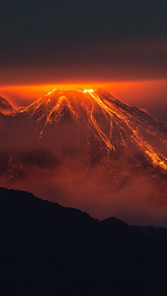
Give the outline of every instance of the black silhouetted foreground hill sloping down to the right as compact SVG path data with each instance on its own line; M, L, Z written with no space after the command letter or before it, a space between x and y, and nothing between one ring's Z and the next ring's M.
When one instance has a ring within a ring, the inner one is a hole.
M1 295L166 295L167 229L0 188Z

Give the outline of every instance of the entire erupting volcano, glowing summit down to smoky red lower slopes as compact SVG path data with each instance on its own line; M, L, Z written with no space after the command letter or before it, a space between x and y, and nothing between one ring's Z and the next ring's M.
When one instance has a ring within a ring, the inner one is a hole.
M0 120L0 186L56 192L93 217L164 221L167 129L150 115L104 90L54 89Z

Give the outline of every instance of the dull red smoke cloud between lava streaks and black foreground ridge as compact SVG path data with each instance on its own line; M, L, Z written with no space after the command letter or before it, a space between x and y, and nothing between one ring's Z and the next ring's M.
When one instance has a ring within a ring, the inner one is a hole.
M31 143L22 146L22 137L13 142L8 130L8 142L3 137L1 145L0 185L79 208L100 220L114 216L129 224L167 226L166 179L149 176L146 168L129 170L119 158L108 162L107 155L96 157L92 145L86 146L84 131L79 139L73 127L63 124L52 140L53 131L48 131L37 149ZM114 165L120 176L114 176Z

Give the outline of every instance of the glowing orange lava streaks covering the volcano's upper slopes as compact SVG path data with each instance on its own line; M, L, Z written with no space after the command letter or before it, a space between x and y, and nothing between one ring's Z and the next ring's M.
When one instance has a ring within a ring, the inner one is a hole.
M120 147L126 154L137 149L152 166L167 171L166 127L104 90L54 89L22 110L24 115L26 121L40 127L38 140L49 124L58 125L70 117L77 124L88 126L104 144L108 158Z

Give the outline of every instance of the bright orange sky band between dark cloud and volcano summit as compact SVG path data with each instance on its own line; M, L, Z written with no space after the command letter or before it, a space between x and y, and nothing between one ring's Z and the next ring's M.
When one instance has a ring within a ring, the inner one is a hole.
M41 84L41 85L1 85L0 96L10 101L15 108L24 108L33 101L53 88L78 87L79 83L72 84ZM98 82L81 83L83 88L104 88L113 96L125 101L125 103L154 115L160 120L166 118L167 80L148 81L118 81L118 82Z

